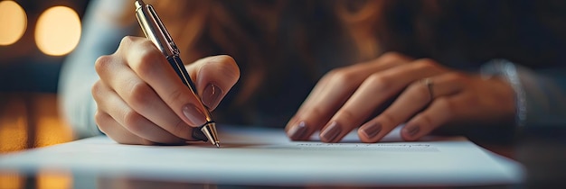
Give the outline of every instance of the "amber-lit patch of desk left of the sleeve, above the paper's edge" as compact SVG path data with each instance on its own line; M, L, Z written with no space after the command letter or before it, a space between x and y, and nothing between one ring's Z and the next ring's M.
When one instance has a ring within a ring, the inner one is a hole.
M0 153L71 140L56 94L0 93Z

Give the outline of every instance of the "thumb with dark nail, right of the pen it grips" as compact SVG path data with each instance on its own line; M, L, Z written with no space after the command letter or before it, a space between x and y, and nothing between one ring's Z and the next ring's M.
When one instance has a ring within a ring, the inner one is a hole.
M227 55L202 58L185 67L210 111L218 106L240 78L240 68L234 58Z

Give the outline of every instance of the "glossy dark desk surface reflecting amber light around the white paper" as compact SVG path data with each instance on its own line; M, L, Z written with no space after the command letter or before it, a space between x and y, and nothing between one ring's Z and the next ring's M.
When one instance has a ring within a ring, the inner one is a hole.
M0 94L0 97L0 153L71 141L71 130L59 118L55 94ZM523 164L527 172L525 185L528 187L566 184L566 130L558 128L525 130L524 135L514 142L474 142ZM96 182L92 182L93 180ZM37 175L0 173L0 188L71 188L72 185L81 184L90 185L90 188L245 187L165 182L127 176L87 179L64 172L42 172ZM313 186L307 185L307 187Z

